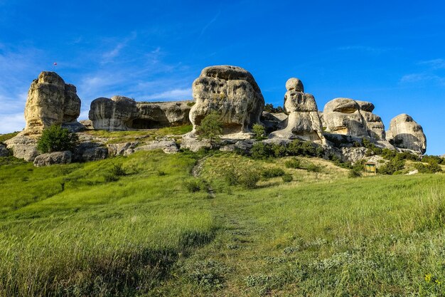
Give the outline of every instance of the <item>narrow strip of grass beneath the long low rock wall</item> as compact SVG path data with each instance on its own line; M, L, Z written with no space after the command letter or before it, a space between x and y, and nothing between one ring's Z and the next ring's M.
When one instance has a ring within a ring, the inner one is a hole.
M174 127L164 127L160 129L149 130L132 130L132 131L107 131L107 130L90 130L85 131L87 135L95 137L108 138L107 144L132 142L136 140L146 141L155 140L156 137L178 136L191 132L192 125L181 125Z

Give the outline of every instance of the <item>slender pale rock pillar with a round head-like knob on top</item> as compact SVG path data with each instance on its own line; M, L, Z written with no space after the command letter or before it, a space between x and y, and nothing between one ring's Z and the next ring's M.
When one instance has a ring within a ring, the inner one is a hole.
M298 78L289 78L286 82L284 109L289 113L286 127L272 132L271 137L294 138L324 143L323 125L313 95L303 93L304 86Z

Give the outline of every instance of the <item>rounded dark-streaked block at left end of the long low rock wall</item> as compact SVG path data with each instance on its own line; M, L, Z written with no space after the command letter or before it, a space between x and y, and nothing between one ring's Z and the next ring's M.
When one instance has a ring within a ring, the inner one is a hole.
M95 129L129 130L138 115L136 101L123 96L97 98L92 101L88 118Z

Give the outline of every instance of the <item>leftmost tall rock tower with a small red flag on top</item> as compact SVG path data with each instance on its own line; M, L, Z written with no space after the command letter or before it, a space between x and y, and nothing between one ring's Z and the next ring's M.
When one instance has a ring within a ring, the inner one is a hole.
M20 135L39 135L53 124L79 128L80 98L74 85L55 72L43 71L33 80L26 100L26 127Z

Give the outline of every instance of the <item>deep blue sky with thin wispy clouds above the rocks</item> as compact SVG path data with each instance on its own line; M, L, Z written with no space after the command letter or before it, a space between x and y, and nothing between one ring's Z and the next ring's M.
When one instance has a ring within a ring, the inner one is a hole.
M250 71L267 103L303 80L318 109L368 100L389 127L400 113L445 154L444 1L0 0L0 133L24 127L26 93L41 71L91 100L191 98L205 66Z

